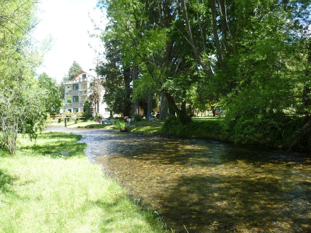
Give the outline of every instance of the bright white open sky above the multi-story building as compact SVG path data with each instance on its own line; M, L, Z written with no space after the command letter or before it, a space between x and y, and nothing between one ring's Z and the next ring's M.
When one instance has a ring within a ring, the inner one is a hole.
M96 53L91 46L99 48L102 43L99 39L90 38L88 31L94 32L93 23L101 21L101 28L107 20L99 9L94 9L96 0L42 0L38 4L37 15L40 20L32 37L39 42L52 36L54 44L44 56L44 62L37 69L38 73L46 72L56 78L59 83L64 74L68 74L72 62L77 61L84 70L95 68L93 59Z

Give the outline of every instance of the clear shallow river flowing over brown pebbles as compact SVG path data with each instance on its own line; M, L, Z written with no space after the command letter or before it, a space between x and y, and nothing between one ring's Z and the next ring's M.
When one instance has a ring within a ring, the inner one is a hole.
M311 232L311 158L207 139L48 127L82 135L88 158L176 232ZM184 226L185 227L184 227Z

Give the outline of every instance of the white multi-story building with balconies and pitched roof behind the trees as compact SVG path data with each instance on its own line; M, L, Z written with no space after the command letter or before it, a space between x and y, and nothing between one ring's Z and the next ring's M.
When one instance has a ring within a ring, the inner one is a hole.
M97 76L94 70L89 72L80 71L72 80L65 85L65 112L84 112L85 99L90 95L90 83ZM103 102L104 90L100 99L99 112L105 118L110 116L106 103ZM92 115L95 115L95 107L91 108Z

